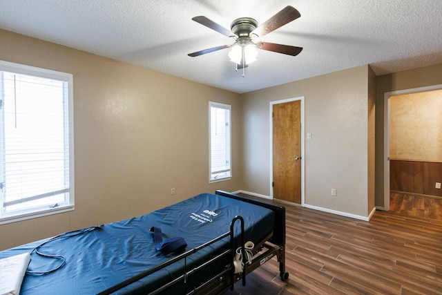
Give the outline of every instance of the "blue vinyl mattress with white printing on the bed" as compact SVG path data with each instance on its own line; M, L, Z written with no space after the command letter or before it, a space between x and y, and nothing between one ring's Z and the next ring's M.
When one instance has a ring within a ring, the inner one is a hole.
M40 247L44 254L59 254L66 263L49 274L26 274L21 294L97 294L117 283L136 276L155 265L164 263L175 254L164 255L155 250L151 227L160 227L163 238L181 236L187 242L185 251L218 238L230 229L235 216L244 218L245 240L255 243L263 240L273 229L273 211L263 207L202 193L169 207L143 216L113 222L76 236L52 240ZM239 223L236 222L236 229ZM236 230L236 233L239 231ZM237 234L236 234L237 236ZM45 240L0 252L0 259L31 252ZM219 254L229 247L229 240L215 242L160 272L124 287L119 294L146 294L183 273L184 265L191 269L196 264ZM45 271L57 267L59 260L31 256L28 270ZM206 267L201 276L211 277L220 272L224 262ZM213 274L212 274L213 272ZM195 278L193 279L195 280ZM194 285L199 282L195 280ZM177 288L182 288L178 285ZM171 293L176 293L171 291Z

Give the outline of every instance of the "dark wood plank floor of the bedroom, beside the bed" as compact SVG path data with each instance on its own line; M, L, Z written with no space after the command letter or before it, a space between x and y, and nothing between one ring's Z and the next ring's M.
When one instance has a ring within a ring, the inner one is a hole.
M369 222L287 209L286 268L276 258L225 295L442 294L442 221L376 211Z

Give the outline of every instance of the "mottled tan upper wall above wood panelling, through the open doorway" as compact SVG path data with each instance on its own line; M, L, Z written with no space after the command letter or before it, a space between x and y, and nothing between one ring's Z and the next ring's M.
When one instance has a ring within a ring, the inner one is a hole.
M390 160L442 162L442 90L390 97Z

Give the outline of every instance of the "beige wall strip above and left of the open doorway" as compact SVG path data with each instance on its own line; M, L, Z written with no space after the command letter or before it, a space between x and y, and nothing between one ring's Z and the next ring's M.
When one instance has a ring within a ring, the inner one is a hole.
M376 206L384 206L384 94L442 84L442 64L376 77Z

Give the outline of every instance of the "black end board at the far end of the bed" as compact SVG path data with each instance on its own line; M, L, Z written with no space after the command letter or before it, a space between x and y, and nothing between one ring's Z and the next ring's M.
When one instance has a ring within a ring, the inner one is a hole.
M275 225L273 226L273 236L270 238L270 242L278 246L285 245L285 207L278 206L276 204L271 204L269 202L264 202L260 200L255 200L251 198L245 198L235 193L228 193L227 191L215 191L219 196L224 196L227 198L233 198L236 200L241 200L243 202L248 202L251 204L256 204L260 207L265 207L272 210L275 213Z

